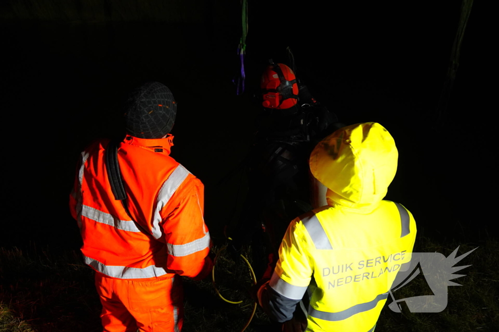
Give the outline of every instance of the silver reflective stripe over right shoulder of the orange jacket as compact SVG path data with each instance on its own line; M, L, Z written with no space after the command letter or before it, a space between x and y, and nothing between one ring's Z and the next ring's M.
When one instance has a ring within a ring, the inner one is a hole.
M156 209L154 210L152 226L152 234L156 239L159 239L163 234L160 227L160 223L162 221L160 215L161 210L165 207L177 188L179 188L189 174L190 172L184 166L179 164L172 174L170 174L165 183L163 183L163 186L161 186L158 193L158 200L156 202Z

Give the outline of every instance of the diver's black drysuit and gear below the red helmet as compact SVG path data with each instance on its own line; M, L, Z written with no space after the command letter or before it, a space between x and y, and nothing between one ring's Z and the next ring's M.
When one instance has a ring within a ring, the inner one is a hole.
M287 109L263 108L256 119L254 144L246 160L249 191L239 223L230 232L228 249L235 260L239 260L242 246L251 242L257 280L271 260L269 255L278 257L289 222L312 209L308 166L312 149L344 126L293 78L294 74L288 81L297 83L296 104ZM269 265L275 263L273 259Z

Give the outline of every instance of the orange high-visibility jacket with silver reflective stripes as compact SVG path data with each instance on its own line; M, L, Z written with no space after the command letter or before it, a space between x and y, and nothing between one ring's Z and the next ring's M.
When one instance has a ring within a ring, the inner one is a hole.
M84 261L120 279L175 274L201 279L212 267L211 239L203 219L204 186L170 157L173 136L126 136L118 162L131 218L109 184L105 150L109 140L81 153L70 210L83 238ZM145 234L136 221L148 234Z

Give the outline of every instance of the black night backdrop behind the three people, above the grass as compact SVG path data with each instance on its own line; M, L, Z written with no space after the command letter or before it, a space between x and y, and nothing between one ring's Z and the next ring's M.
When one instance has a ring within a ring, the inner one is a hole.
M495 53L483 2L473 4L445 125L437 121L460 2L249 0L243 96L232 83L239 1L3 2L0 246L80 246L68 210L78 154L119 134L120 102L144 80L179 103L172 156L205 183L206 222L222 240L245 191L240 173L219 181L248 151L260 111L252 90L268 58L287 63L287 46L297 75L342 122L376 121L394 136L387 199L413 213L418 234L495 236L497 105L484 81Z

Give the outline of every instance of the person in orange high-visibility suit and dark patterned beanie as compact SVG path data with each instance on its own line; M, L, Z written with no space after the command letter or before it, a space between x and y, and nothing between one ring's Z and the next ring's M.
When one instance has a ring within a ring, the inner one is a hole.
M181 331L180 276L199 280L213 267L203 183L170 157L176 111L166 86L146 83L127 101L124 139L81 153L70 210L95 270L104 332ZM113 151L123 200L111 184Z

